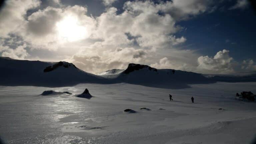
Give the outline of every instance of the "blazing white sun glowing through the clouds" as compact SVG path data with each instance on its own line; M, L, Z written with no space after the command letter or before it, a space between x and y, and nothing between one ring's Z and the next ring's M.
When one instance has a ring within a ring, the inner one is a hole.
M88 37L86 27L79 25L76 17L67 16L56 24L58 36L61 40L69 42L78 41Z

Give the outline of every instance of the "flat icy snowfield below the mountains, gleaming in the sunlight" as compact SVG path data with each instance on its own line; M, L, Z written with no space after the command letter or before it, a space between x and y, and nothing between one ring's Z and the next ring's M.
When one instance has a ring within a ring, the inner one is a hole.
M251 144L256 136L256 103L237 101L235 94L255 93L255 85L0 86L0 135L6 144ZM85 88L93 98L76 97ZM45 90L72 95L39 95Z

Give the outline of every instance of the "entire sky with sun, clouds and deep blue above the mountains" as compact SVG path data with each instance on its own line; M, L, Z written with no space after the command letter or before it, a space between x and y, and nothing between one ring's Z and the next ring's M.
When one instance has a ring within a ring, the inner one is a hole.
M93 74L129 63L203 74L256 70L247 0L7 0L0 56L67 61Z

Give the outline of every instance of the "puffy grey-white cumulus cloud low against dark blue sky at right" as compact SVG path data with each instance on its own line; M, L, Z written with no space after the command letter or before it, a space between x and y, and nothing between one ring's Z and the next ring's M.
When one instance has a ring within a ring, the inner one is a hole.
M197 59L197 71L208 74L227 74L234 72L233 58L229 56L228 50L222 50L211 58L209 56L200 56Z

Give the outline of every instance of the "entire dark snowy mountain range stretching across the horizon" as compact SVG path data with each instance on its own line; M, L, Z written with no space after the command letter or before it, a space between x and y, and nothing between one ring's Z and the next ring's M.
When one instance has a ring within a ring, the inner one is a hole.
M129 64L127 69L113 69L94 75L68 62L42 62L0 57L0 85L69 86L79 83L130 83L160 88L186 88L189 84L216 81L256 81L256 75L204 76L174 69L156 69L147 65Z

